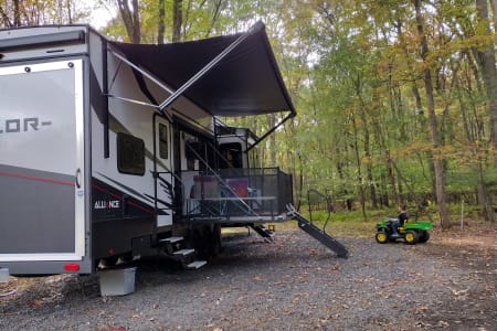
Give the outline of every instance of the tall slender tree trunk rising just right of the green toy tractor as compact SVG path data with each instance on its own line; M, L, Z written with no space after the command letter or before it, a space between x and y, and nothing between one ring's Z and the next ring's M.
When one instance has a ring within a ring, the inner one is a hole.
M436 202L438 204L438 213L442 228L448 228L450 218L446 206L446 194L445 194L445 178L444 178L444 169L442 162L442 154L440 152L440 135L437 131L436 124L436 114L435 114L435 100L433 96L433 83L432 83L432 74L430 67L426 63L426 57L429 55L429 45L426 41L426 35L424 34L424 22L423 15L421 12L421 0L414 0L414 7L416 12L416 25L417 33L421 42L421 57L425 64L425 68L423 70L423 81L424 88L426 93L426 108L429 114L430 121L430 135L432 140L433 148L433 169L435 173L435 191L436 191Z

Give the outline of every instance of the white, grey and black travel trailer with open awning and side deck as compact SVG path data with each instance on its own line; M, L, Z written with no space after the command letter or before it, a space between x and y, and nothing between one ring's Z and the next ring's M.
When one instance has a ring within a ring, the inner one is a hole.
M0 268L12 275L152 254L198 268L221 227L269 237L261 224L298 216L292 175L254 152L296 114L262 23L163 45L88 25L0 30ZM273 113L262 137L220 120Z

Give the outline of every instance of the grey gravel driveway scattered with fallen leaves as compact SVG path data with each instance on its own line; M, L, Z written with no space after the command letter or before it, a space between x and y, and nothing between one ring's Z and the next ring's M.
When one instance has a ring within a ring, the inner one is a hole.
M15 289L0 297L0 329L470 330L440 316L469 271L427 255L436 244L340 241L348 259L295 228L273 243L231 234L200 270L139 263L136 291L124 297L102 298L95 276L13 278L0 285L0 295ZM474 327L490 330L485 321Z

